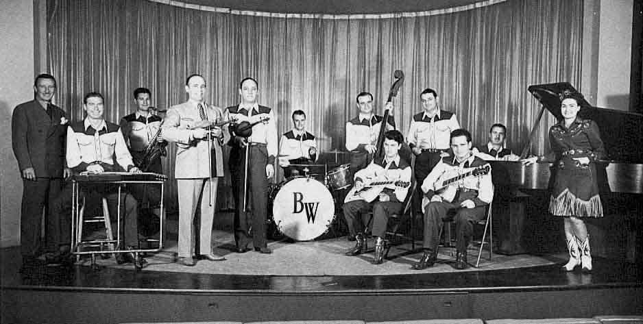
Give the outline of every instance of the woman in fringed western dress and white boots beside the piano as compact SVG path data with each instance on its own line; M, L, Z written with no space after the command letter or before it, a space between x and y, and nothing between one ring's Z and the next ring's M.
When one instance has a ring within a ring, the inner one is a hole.
M563 119L549 129L553 151L526 160L528 163L536 160L555 163L549 212L564 218L570 253L569 262L563 266L566 271L577 266L583 271L592 270L590 236L583 219L603 217L594 162L605 158L605 148L596 122L578 116L582 98L580 93L569 90L560 94Z

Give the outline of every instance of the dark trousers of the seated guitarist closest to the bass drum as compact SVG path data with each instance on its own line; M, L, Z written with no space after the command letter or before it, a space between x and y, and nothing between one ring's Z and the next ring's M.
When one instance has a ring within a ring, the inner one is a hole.
M363 200L349 201L341 206L348 224L350 236L364 233L365 223L368 218L364 219L367 212L373 211L371 221L371 233L373 236L383 238L386 234L386 227L389 221L389 215L402 211L402 203L396 201L374 201L369 203Z

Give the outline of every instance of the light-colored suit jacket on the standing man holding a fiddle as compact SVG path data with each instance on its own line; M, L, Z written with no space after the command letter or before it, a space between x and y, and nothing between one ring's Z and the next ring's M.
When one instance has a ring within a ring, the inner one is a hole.
M204 106L208 121L222 121L223 113L221 108L206 103L204 103ZM201 122L199 108L191 101L173 105L167 110L161 134L163 139L176 143L174 177L177 179L195 179L210 176L210 171L208 171L208 141L195 140L192 136L192 129ZM210 143L212 149L210 168L213 177L223 177L221 142L227 142L229 134L228 132L222 132L222 134L224 136L223 140L213 138Z

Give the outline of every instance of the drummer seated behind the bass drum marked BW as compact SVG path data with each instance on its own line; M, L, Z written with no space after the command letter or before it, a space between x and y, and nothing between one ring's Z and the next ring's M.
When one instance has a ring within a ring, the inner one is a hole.
M293 129L283 134L279 141L279 166L286 178L304 175L302 169L293 164L311 164L317 158L315 136L306 132L306 113L303 110L293 112L293 125Z

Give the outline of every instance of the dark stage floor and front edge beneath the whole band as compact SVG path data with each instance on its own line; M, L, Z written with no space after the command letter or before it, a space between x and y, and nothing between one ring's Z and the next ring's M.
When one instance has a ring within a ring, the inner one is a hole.
M169 222L172 227L172 221ZM594 259L591 274L560 270L561 253L502 256L478 269L452 269L449 248L439 264L413 271L420 252L373 265L372 254L343 256L345 236L311 242L271 240L274 253L232 251L228 225L215 229L223 262L173 263L167 249L147 256L141 272L114 258L20 271L19 249L3 249L3 323L154 321L366 321L446 318L547 318L643 314L643 273L635 264ZM419 242L418 242L419 243ZM403 253L410 244L391 249ZM470 249L474 263L477 250ZM315 269L314 271L311 269ZM306 273L309 271L310 273Z

